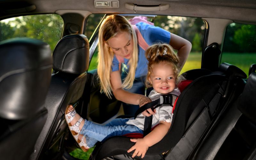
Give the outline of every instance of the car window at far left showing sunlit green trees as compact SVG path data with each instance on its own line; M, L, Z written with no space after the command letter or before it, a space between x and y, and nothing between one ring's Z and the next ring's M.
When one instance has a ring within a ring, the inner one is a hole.
M28 37L48 43L51 50L61 38L63 20L57 14L28 15L0 21L0 41Z

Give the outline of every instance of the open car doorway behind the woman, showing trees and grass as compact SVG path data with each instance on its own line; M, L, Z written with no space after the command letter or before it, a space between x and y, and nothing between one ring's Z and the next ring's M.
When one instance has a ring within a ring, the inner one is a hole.
M96 17L97 14L94 15ZM98 16L98 15L97 15ZM124 15L127 19L135 15ZM204 40L205 23L200 18L177 17L177 16L152 16L147 15L148 21L155 26L164 28L176 35L179 35L192 43L192 51L180 73L190 69L201 68L202 48ZM87 24L89 23L89 19ZM87 27L89 28L89 27ZM87 30L87 29L86 29ZM97 48L92 56L89 70L97 68Z

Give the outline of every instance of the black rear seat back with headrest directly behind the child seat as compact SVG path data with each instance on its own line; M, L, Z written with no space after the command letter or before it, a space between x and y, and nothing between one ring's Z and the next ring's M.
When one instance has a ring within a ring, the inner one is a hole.
M190 116L190 120L188 120L184 137L169 151L165 157L166 160L187 159L190 152L197 144L201 143L225 109L242 92L244 87L242 78L246 78L246 74L240 68L222 63L219 70L211 74L224 76L225 79L219 83L219 86L211 86L216 87L216 89L219 88L218 91L210 89L212 90L209 90L211 93L205 93L203 101L198 104Z

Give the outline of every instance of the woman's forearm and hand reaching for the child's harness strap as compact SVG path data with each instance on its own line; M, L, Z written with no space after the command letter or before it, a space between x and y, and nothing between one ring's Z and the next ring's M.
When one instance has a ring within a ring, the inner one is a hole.
M151 102L151 100L142 95L137 93L131 93L128 91L125 91L122 86L121 76L119 71L114 71L110 74L110 82L113 94L117 100L120 100L124 103L139 105L140 107L143 106L146 103ZM154 114L152 110L150 110ZM145 111L146 112L146 111ZM148 113L147 113L148 114ZM150 116L151 114L145 115Z

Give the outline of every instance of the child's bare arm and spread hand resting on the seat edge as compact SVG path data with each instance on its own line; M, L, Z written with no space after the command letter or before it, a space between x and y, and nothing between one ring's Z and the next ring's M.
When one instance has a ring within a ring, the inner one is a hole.
M148 135L146 135L144 138L131 139L132 142L136 143L127 152L130 153L135 149L132 158L135 156L141 156L141 158L143 158L148 150L148 147L151 147L162 140L168 132L170 126L171 123L161 121L159 125L156 126L156 128L148 133Z

